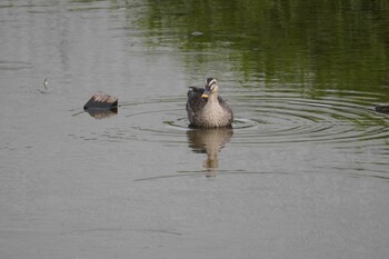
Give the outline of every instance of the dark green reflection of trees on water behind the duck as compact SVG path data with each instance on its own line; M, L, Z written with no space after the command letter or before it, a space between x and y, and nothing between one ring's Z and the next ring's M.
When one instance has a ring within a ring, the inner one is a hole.
M389 83L387 0L149 0L141 18L151 44L172 44L186 67L263 83L331 83L366 89ZM201 31L201 36L192 36ZM157 40L154 40L157 39ZM213 62L207 67L207 63ZM219 67L218 67L219 64ZM212 71L211 71L212 72ZM237 77L237 74L235 76ZM368 89L371 91L372 89Z

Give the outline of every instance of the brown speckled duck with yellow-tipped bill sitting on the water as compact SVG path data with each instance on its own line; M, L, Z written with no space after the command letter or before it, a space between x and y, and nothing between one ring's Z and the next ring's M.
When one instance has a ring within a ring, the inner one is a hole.
M219 96L215 78L207 78L203 89L190 87L186 108L190 128L231 127L233 121L233 112Z

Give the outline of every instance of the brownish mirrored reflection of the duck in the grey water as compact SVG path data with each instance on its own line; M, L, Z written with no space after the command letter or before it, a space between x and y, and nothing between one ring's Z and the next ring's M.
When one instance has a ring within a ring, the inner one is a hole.
M207 177L216 177L219 167L218 152L222 149L233 135L232 128L218 129L191 129L187 131L189 147L193 152L207 153L203 162Z

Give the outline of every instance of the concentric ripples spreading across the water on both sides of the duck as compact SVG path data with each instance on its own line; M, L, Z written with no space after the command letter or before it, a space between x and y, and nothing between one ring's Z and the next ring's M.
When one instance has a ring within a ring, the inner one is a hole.
M229 98L235 110L233 142L340 143L389 138L388 116L373 110L378 96L323 91L320 98L272 90L261 96L243 92ZM186 142L188 120L182 97L127 102L116 127L97 139L108 141Z

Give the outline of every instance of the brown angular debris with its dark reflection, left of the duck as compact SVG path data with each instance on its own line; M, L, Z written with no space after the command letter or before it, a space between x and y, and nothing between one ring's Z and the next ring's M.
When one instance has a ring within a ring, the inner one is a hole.
M118 113L118 98L103 92L94 93L83 109L94 119L104 119Z

